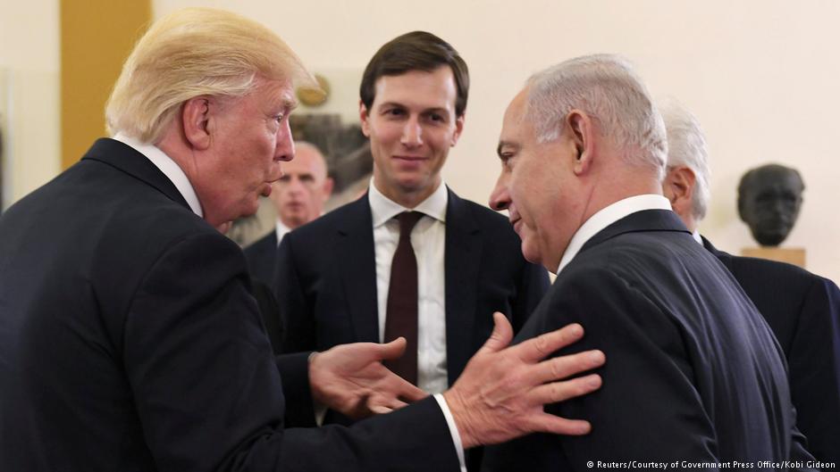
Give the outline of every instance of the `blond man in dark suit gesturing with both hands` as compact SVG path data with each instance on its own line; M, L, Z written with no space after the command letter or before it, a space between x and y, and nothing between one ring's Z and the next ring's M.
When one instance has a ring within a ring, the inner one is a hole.
M542 404L597 388L553 380L602 353L540 361L580 327L503 349L501 315L442 395L284 430L287 404L358 415L422 395L380 362L404 340L275 365L245 258L215 229L280 178L308 80L271 30L228 12L174 12L140 39L108 104L113 139L0 219L0 469L458 470L461 446L587 431Z

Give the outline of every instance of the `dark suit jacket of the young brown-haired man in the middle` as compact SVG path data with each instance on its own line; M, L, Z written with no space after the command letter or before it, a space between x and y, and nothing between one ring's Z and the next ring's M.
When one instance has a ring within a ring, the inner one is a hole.
M374 225L367 195L285 237L274 287L286 321L286 352L379 342ZM548 288L542 267L495 211L449 191L444 251L449 385L492 331L493 311L525 322Z

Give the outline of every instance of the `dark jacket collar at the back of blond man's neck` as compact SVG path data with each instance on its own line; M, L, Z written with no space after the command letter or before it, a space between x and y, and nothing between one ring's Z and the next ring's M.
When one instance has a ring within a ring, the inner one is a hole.
M100 138L91 146L82 160L105 162L105 164L122 170L134 178L139 178L149 186L155 187L172 201L181 203L189 210L189 204L184 200L183 195L172 183L172 180L157 169L155 164L149 161L146 156L137 152L130 145L113 139Z

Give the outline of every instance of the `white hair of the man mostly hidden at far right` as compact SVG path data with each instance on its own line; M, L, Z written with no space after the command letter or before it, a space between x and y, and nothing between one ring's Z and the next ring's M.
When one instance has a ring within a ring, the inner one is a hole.
M700 121L674 99L660 105L662 119L668 133L668 168L685 166L694 172L692 215L703 219L709 209L709 153Z

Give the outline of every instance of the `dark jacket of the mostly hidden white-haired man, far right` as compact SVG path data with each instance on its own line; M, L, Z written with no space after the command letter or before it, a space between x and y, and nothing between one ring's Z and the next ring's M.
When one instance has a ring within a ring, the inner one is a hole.
M840 290L791 264L733 256L705 238L703 245L732 272L781 344L808 451L840 465Z

